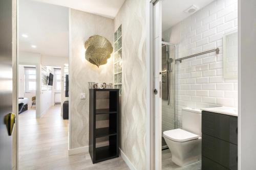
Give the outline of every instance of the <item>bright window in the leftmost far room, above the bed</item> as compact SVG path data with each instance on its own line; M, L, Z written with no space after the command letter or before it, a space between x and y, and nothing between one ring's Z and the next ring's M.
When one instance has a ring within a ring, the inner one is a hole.
M24 67L25 73L25 91L27 93L34 92L36 90L36 68Z

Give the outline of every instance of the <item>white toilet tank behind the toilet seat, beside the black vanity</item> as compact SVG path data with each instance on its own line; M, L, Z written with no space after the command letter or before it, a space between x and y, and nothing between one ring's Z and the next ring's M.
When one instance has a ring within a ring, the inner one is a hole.
M202 111L200 109L182 108L182 129L202 136Z

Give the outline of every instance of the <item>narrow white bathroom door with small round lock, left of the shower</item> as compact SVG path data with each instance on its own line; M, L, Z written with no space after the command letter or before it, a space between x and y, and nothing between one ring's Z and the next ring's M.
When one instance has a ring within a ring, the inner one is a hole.
M162 2L154 4L154 116L155 116L155 169L162 167Z

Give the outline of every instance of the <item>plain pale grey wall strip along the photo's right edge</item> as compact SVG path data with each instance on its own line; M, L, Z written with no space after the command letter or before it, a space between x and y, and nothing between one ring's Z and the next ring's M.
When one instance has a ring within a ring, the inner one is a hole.
M256 1L239 0L239 169L256 169Z

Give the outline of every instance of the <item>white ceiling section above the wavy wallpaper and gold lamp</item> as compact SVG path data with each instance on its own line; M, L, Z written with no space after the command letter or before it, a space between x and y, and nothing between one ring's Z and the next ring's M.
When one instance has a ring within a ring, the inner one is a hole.
M125 0L34 0L114 18Z

